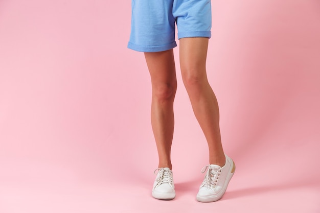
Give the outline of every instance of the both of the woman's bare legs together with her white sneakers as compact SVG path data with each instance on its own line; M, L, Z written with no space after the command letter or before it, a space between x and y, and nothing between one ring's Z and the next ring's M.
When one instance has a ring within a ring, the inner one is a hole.
M205 70L207 50L208 38L180 39L182 80L209 146L211 165L205 168L207 174L197 194L200 202L219 200L235 171L233 160L224 155L221 145L218 103ZM170 152L177 88L173 50L145 53L145 58L152 83L151 124L159 157L158 168L161 168L153 184L152 196L171 200L175 198Z

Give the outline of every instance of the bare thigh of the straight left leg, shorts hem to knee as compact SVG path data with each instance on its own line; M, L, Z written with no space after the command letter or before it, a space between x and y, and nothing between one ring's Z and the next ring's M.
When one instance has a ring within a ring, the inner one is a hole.
M176 74L173 50L145 53L152 87L175 86Z

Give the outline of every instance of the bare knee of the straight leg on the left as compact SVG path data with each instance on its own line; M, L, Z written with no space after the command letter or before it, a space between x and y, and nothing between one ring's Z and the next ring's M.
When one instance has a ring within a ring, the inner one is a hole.
M158 101L173 100L177 89L176 83L173 84L161 84L153 87L153 96Z

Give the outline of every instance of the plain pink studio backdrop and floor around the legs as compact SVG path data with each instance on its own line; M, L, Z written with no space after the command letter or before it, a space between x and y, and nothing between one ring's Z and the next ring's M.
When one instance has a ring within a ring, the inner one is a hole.
M151 85L126 48L130 1L0 0L0 212L320 212L320 2L212 10L208 75L237 170L203 204L207 144L179 72L177 197L151 197Z

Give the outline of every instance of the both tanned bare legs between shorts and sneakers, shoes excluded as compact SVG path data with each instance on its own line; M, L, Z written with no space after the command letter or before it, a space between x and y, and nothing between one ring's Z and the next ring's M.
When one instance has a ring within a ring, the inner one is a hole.
M225 156L221 144L219 108L205 69L208 40L181 38L180 66L194 114L208 142L209 163L223 166ZM158 167L172 169L173 101L177 87L173 50L145 53L145 58L152 83L151 124L159 157Z

